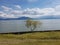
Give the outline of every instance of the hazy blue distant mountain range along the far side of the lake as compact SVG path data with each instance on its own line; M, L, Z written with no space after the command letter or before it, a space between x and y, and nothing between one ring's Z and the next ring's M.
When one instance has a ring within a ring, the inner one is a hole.
M26 20L26 19L60 19L60 15L45 15L40 16L39 18L30 18L30 17L19 17L19 18L3 18L0 17L0 20Z

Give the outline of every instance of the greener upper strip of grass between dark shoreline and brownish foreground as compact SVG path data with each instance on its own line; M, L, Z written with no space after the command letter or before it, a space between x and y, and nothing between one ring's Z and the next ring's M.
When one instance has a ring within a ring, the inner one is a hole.
M8 39L42 39L42 38L60 38L60 32L35 32L26 34L0 34L0 38Z

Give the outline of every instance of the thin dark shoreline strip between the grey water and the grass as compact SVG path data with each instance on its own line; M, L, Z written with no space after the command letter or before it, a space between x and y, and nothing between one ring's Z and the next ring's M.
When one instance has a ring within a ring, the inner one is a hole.
M60 30L46 30L46 31L23 31L23 32L6 32L0 34L25 34L25 33L35 33L35 32L60 32Z

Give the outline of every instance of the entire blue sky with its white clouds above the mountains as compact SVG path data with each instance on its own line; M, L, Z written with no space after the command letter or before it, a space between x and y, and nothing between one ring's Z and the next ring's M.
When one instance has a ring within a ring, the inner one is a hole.
M0 17L60 15L60 0L0 0Z

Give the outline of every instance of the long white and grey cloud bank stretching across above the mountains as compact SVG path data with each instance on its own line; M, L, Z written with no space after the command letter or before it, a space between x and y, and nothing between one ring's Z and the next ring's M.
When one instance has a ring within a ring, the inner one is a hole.
M10 10L7 13L4 13L4 11L0 11L0 17L5 17L5 18L17 18L17 17L32 17L32 18L38 18L40 16L45 16L45 15L60 15L60 5L55 6L54 8L26 8L23 10L15 10L12 8L8 8L6 6L4 7L4 10Z

